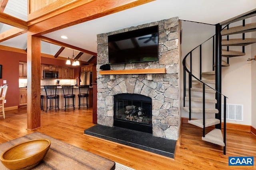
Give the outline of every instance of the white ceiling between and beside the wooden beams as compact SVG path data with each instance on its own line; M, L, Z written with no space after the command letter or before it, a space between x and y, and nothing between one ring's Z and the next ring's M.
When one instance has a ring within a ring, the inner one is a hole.
M24 4L26 0L8 0L8 5L14 6L13 3ZM26 6L22 7L22 4L19 5L19 9L26 8ZM10 10L8 5L4 13L24 20L24 12L22 13L17 9ZM44 36L97 53L96 40L97 34L100 33L108 33L173 17L178 17L180 20L215 25L255 8L256 0L156 0L122 12L47 33ZM8 28L8 25L0 24L0 32L10 28ZM66 35L68 39L60 38L62 35ZM26 49L26 34L1 42L0 45ZM41 51L42 53L55 55L59 49L60 46L58 45L44 42ZM71 49L65 49L60 56L72 57L72 53ZM79 52L75 52L75 55L77 53ZM92 55L84 54L80 59L88 61L90 57Z

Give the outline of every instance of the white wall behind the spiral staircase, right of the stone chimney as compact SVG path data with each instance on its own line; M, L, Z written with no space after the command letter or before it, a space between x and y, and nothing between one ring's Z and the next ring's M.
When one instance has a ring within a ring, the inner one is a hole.
M247 19L246 23L251 20ZM236 24L233 24L236 25ZM189 21L182 21L182 59L194 47L204 42L215 34L215 25L206 25L202 23L194 23ZM238 35L230 35L230 38L241 38ZM252 33L246 33L246 37L251 37ZM254 35L255 36L255 35ZM225 39L225 37L223 37ZM243 121L227 120L228 123L236 123L243 125L254 125L256 127L256 115L252 115L252 110L256 110L256 106L252 106L252 101L256 101L256 88L253 89L253 84L256 84L256 61L247 61L256 55L256 46L248 45L245 47L246 56L232 57L229 60L229 67L222 67L222 94L228 97L227 104L243 105ZM212 49L208 49L212 54ZM230 50L242 51L242 47L230 47ZM194 55L193 55L194 57ZM222 57L226 61L226 58ZM198 60L199 61L199 60ZM193 67L197 63L193 63ZM182 66L183 67L183 66ZM253 70L251 68L254 68ZM207 70L208 69L208 70ZM211 66L204 65L203 71L210 71ZM193 72L198 70L193 69ZM254 75L254 77L253 77ZM253 78L252 78L253 77ZM182 73L181 73L181 79ZM183 88L183 87L182 87ZM182 89L183 90L183 89ZM182 91L183 97L183 91ZM181 98L181 101L183 99ZM222 100L223 103L223 100ZM213 106L214 107L214 106ZM188 113L182 110L182 117L188 117ZM196 113L192 115L193 118L200 119L202 116Z

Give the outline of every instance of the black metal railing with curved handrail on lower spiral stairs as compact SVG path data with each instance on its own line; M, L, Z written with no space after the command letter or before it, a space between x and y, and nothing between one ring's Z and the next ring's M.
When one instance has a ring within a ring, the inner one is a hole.
M209 41L210 39L213 39L213 62L214 62L214 37L215 35L213 35L212 37L210 37L209 39L207 39L206 41L204 41L204 43L206 43L207 41ZM204 44L202 43L202 44ZM196 80L198 80L200 83L203 84L203 137L205 137L205 86L208 86L206 83L202 82L200 79L201 74L202 74L202 44L198 45L197 47L195 47L194 49L192 49L183 59L182 64L183 64L183 96L184 96L184 100L183 100L183 106L186 106L186 102L185 102L185 97L186 97L186 72L188 73L188 99L189 99L189 120L191 120L191 88L192 88L192 77L195 78ZM198 79L196 76L194 76L194 74L192 74L192 52L197 49L198 47L200 47L200 79ZM188 70L188 68L186 67L186 58L190 56L190 70ZM214 63L212 63L212 65L214 65ZM214 67L213 67L214 70ZM215 92L219 93L220 95L222 95L224 97L224 126L223 126L223 142L225 144L224 148L223 148L223 154L226 154L226 96L224 96L223 94L221 94L220 92L218 92L217 90L215 90L214 88L208 86L210 89L214 90ZM221 114L221 112L219 111L218 114ZM220 116L221 117L221 116ZM221 120L220 120L221 123Z

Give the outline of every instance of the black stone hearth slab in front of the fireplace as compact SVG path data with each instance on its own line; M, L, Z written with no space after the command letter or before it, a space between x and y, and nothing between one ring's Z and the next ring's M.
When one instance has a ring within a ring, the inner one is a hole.
M84 134L174 158L176 141L154 137L150 133L122 127L95 125L84 130Z

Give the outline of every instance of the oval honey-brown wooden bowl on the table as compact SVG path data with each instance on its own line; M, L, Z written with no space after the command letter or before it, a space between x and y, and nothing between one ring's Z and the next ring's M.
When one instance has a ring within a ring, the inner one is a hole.
M4 151L1 162L10 170L28 170L35 167L47 154L51 145L48 139L34 139L14 145Z

